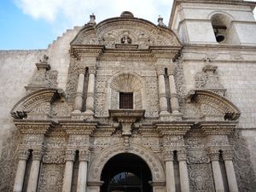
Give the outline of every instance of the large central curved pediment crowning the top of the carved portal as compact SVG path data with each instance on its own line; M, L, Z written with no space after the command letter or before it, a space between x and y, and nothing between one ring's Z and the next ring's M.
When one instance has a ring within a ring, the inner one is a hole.
M133 15L103 20L96 26L85 25L71 43L105 45L108 49L115 48L117 44L137 44L139 49L147 49L149 46L182 46L169 28L155 26Z

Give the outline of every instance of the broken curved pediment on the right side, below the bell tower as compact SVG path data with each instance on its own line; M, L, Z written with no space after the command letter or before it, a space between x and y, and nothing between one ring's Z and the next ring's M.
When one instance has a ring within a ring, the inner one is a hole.
M241 114L232 102L209 90L194 90L189 94L189 99L190 102L195 103L194 106L190 106L193 113L197 111L198 115L207 120L215 120L216 118L236 120ZM185 113L188 111L189 108Z

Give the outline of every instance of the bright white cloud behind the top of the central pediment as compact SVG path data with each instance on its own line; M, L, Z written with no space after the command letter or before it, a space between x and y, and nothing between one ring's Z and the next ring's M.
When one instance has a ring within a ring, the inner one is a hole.
M172 0L14 0L26 15L43 19L49 23L66 22L68 25L84 25L89 15L94 13L96 20L119 16L129 10L136 17L154 23L158 15L165 18L166 24L172 8Z

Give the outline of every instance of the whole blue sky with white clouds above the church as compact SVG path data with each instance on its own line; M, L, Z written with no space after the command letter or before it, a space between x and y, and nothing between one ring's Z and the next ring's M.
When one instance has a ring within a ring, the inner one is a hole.
M255 1L255 0L252 0ZM96 21L116 17L124 10L156 24L166 25L173 0L0 0L0 49L46 49L73 26L83 26L90 14Z

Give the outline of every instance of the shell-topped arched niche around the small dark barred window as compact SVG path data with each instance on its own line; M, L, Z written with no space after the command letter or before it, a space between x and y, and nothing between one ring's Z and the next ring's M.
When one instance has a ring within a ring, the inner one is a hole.
M121 73L110 83L110 109L143 109L143 84L133 73Z

